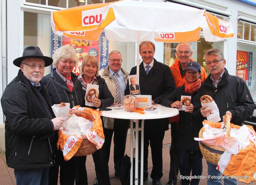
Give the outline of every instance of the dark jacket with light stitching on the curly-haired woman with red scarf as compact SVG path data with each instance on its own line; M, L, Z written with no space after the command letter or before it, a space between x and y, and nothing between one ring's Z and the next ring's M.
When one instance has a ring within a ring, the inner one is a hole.
M72 92L70 92L67 84L60 78L60 75L56 73L54 68L51 74L44 76L42 82L51 97L52 104L60 104L61 102L69 103L70 108L76 105L84 107L84 96L82 95L82 84L76 78L74 73L71 73L71 80L74 83Z

